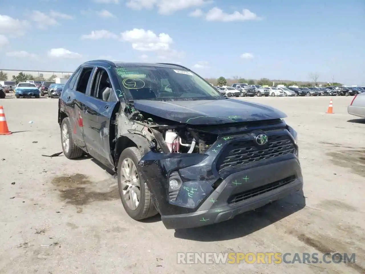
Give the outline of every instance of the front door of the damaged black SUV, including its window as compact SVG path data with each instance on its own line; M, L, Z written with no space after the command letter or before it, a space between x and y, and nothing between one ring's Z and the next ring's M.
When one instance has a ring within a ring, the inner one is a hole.
M98 154L95 156L101 163L114 168L114 160L111 156L111 142L115 138L114 132L110 134L110 120L118 98L112 87L111 77L108 70L98 66L93 75L89 99L85 103L88 110L87 131L88 138L92 149ZM85 121L86 122L86 121Z

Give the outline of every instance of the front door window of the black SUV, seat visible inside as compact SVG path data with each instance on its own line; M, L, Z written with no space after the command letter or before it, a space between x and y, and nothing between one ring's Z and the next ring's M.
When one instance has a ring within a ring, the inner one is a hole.
M114 98L111 80L105 69L97 68L91 85L90 95L105 102L111 102L112 98Z

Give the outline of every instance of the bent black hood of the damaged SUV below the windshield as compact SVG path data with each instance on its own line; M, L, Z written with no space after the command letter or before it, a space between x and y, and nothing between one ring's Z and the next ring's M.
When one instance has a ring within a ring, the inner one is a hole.
M287 117L285 113L272 107L239 99L169 102L135 100L134 108L189 125L217 125Z

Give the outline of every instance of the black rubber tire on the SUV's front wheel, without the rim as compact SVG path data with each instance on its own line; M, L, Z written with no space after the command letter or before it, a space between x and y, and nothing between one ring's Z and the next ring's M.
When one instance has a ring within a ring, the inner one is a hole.
M132 161L132 164L137 167L139 160L141 159L141 153L139 150L135 147L129 147L123 150L123 152L120 154L119 162L118 162L118 189L120 194L120 199L122 200L122 204L124 209L126 210L129 217L131 217L134 220L142 220L146 219L152 216L155 216L158 212L157 209L154 206L153 199L151 197L151 193L147 187L146 182L143 180L142 176L139 176L138 171L138 181L139 181L139 203L138 206L135 209L131 209L128 205L128 201L126 200L126 197L123 194L122 185L122 176L123 179L125 178L122 171L122 165L124 160ZM128 164L128 167L130 164ZM126 186L127 187L127 186ZM137 187L138 189L138 187Z

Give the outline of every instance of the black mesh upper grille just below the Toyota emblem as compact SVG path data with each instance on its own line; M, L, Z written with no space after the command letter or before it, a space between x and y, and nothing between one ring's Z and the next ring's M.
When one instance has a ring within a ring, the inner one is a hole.
M245 165L289 153L295 153L295 146L287 135L270 136L269 144L262 147L254 141L236 141L227 145L220 155L216 167L218 171L225 168Z

